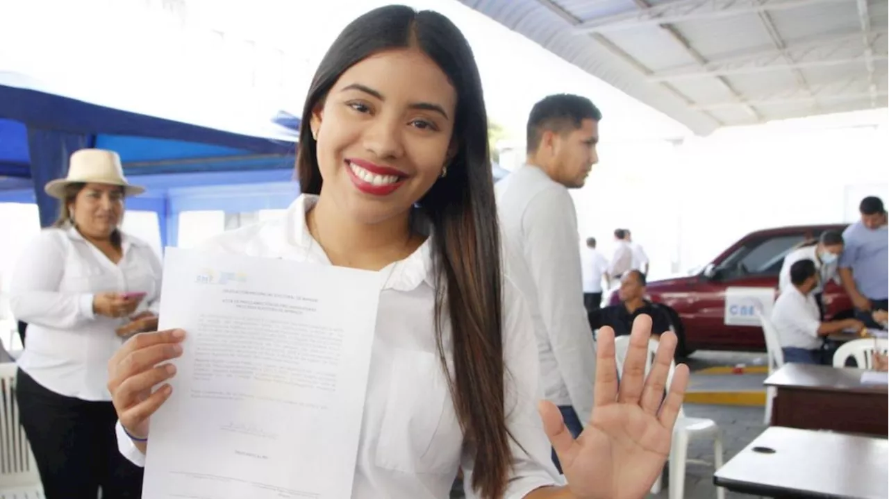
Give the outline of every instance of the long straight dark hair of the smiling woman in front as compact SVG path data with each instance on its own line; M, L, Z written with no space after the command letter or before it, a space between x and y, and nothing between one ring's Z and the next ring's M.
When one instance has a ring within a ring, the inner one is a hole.
M419 204L434 228L436 340L444 368L446 309L453 336L454 379L449 376L449 382L454 408L476 453L472 487L485 497L499 498L512 463L504 408L500 231L481 77L469 43L451 20L390 5L349 24L327 51L309 88L297 173L303 193L321 192L316 142L308 123L340 75L372 54L407 47L434 60L457 91L453 160L447 175Z

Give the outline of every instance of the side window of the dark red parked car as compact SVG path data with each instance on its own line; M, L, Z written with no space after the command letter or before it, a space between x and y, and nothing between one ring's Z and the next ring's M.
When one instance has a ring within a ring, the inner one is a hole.
M751 239L719 265L727 278L746 275L778 275L790 250L804 242L806 234L784 234Z

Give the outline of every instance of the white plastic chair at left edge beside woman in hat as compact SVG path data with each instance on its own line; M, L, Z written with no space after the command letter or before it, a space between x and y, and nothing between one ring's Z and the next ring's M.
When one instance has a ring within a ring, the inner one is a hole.
M14 362L0 363L0 499L42 498L40 474L19 425L15 373Z

